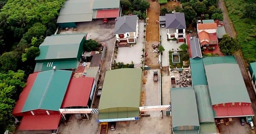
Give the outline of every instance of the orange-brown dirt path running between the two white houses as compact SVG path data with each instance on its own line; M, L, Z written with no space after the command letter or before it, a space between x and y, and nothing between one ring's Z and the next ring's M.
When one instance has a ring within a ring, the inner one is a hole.
M148 54L145 57L145 65L150 67L158 67L158 55L153 53L154 49L152 48L153 44L159 44L159 24L156 23L159 20L159 3L152 0L148 0L150 7L147 12L147 24L146 24L146 52Z

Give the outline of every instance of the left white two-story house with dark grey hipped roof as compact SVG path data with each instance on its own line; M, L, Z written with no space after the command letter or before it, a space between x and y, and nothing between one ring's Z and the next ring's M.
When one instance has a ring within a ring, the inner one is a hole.
M116 18L114 35L119 47L129 46L129 43L136 43L139 34L138 16L125 15Z

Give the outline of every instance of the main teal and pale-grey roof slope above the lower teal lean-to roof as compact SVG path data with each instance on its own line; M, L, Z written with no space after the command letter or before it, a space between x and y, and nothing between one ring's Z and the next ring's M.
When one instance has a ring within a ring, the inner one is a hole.
M48 36L39 46L40 55L35 60L77 58L86 34Z

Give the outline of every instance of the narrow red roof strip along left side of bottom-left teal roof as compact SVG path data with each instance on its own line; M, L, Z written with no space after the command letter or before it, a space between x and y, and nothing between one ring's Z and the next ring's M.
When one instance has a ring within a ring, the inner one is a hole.
M29 74L29 77L26 82L26 86L23 88L23 91L20 93L19 100L12 111L13 116L22 116L21 110L26 102L26 99L29 95L29 92L35 82L35 78L37 77L38 73Z

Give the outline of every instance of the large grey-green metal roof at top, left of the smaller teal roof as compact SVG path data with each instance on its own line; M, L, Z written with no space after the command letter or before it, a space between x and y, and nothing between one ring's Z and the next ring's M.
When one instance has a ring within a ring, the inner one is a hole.
M93 0L67 0L61 7L57 23L92 21L92 5Z

